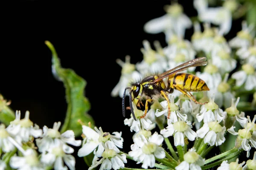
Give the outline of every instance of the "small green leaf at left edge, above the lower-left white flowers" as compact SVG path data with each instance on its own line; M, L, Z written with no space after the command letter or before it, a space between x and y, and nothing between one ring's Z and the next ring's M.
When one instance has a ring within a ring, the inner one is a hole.
M0 94L0 122L6 126L10 125L10 122L15 119L14 111L8 106L10 103L3 99L3 96Z

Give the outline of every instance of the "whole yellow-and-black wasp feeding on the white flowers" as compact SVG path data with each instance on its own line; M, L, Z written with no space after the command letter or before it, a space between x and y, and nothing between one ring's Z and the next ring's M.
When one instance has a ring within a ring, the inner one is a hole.
M125 116L125 94L126 90L130 90L129 93L129 103L131 108L131 113L136 120L134 109L132 106L132 102L140 108L140 105L143 105L142 99L146 99L145 101L145 112L144 115L140 118L146 116L148 110L148 102L153 102L156 97L163 96L168 103L168 116L170 117L170 108L169 108L169 99L167 94L173 93L174 89L180 91L182 94L188 96L195 103L204 105L207 102L201 103L198 102L195 97L190 92L196 91L209 91L204 80L196 77L193 74L187 73L179 73L181 71L185 71L191 67L203 66L207 65L206 57L200 57L188 62L184 62L181 65L178 65L175 68L172 68L169 71L164 72L163 74L156 74L145 77L144 79L131 83L131 87L125 88L123 97L122 97L122 114ZM164 78L168 77L167 82L164 81ZM167 84L167 85L166 85ZM143 105L144 106L144 105Z

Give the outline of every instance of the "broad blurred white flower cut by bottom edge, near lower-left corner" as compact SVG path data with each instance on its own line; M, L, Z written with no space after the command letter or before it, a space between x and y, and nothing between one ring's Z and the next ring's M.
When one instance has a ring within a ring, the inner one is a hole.
M28 149L23 156L12 156L10 166L17 170L45 170L44 164L38 159L36 150Z

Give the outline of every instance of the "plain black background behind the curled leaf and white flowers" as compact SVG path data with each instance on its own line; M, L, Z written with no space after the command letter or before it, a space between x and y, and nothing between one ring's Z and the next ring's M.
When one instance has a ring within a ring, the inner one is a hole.
M197 14L192 1L179 3L189 17ZM151 45L160 40L162 46L166 45L163 33L143 31L148 20L165 14L166 4L170 0L23 0L6 6L1 25L0 93L12 100L10 107L20 110L22 118L25 111L30 111L30 119L41 128L64 121L65 89L52 76L51 52L44 44L49 40L62 67L72 68L87 81L85 96L96 126L111 133L122 130L128 152L132 143L126 141L133 133L123 124L121 99L110 96L121 75L116 59L124 61L128 54L132 63L141 61L143 40ZM240 22L235 21L232 28L227 38L241 29ZM187 30L186 39L190 40L192 33L192 28ZM76 161L77 169L87 169L82 158Z

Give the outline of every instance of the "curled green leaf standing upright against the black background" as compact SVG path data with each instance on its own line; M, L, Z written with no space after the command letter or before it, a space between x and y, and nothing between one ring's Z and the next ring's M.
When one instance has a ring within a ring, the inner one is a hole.
M93 118L87 113L90 110L90 102L84 96L86 81L72 69L62 68L52 43L45 41L45 44L52 51L52 74L56 79L64 83L66 89L67 113L61 133L66 130L73 130L75 136L80 136L82 126L79 120L85 125L90 122L91 126L94 126Z

